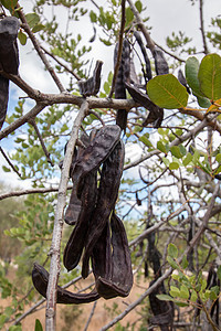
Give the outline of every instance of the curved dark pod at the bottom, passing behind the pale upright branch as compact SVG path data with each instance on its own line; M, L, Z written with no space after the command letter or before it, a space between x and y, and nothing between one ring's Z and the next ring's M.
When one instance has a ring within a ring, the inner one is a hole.
M46 288L49 282L49 273L44 267L39 264L34 264L32 269L32 281L40 295L46 298ZM80 305L88 303L99 299L99 295L96 290L92 290L90 293L73 293L57 286L57 303L65 305Z

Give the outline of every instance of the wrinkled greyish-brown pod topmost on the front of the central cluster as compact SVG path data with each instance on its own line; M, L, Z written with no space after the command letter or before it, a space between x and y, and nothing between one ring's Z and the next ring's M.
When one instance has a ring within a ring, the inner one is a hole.
M81 197L83 178L98 167L108 158L120 138L120 128L117 125L102 127L92 142L83 151L73 168L74 180L76 180L77 197Z

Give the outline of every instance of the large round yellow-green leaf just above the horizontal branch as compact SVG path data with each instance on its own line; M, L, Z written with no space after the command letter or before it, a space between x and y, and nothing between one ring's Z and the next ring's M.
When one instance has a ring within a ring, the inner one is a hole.
M188 102L186 87L171 74L150 79L147 83L147 94L156 105L167 109L183 108Z

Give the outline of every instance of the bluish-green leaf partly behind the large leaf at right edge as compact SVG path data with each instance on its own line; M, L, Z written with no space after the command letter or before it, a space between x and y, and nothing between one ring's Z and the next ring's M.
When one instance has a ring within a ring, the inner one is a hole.
M200 63L197 57L191 56L186 62L186 79L193 95L198 98L200 107L209 108L211 103L200 90L200 82L198 79Z

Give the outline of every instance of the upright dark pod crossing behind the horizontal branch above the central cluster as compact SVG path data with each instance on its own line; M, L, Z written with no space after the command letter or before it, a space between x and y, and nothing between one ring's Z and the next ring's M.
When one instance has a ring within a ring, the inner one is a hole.
M114 67L117 62L117 53L118 53L118 44L116 45L114 52ZM116 84L115 84L116 99L126 99L126 88L124 83L129 81L129 71L130 71L130 47L129 47L129 42L125 39L123 41L122 60L120 60L120 64L116 77ZM126 109L117 110L116 124L122 128L122 130L126 130L126 126L127 126Z

